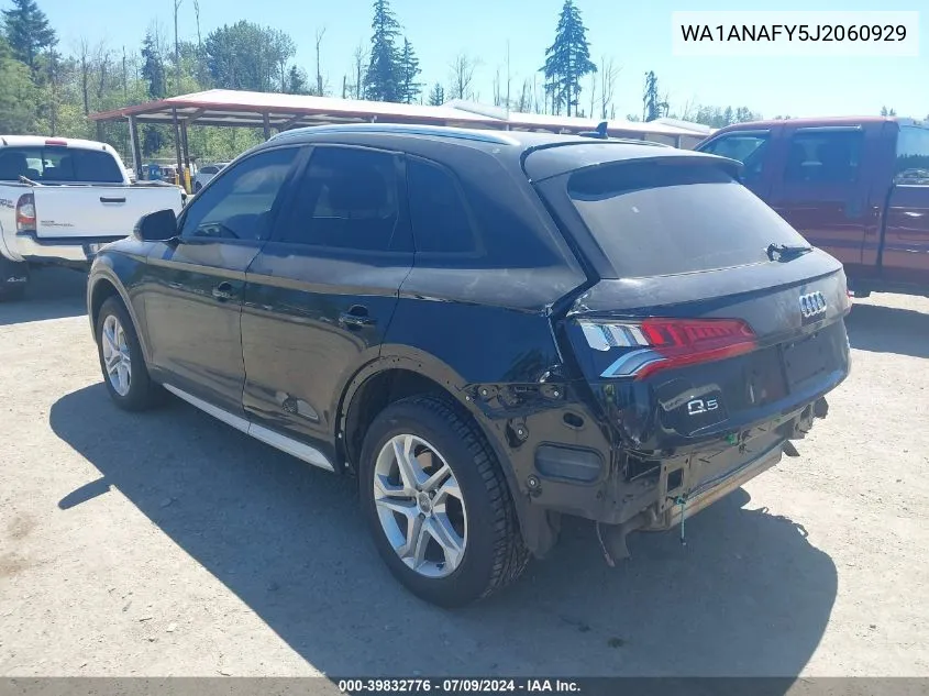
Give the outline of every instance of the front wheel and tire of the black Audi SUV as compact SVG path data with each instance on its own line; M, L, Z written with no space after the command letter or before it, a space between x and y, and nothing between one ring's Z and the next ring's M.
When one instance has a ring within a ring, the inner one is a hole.
M152 382L132 318L118 297L103 302L97 317L97 354L110 398L126 411L144 411L161 401Z

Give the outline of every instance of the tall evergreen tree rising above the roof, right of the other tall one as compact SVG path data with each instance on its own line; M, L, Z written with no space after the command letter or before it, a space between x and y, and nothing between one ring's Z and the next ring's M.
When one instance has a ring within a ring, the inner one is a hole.
M566 107L567 115L576 113L580 80L585 75L596 73L597 66L590 60L587 29L574 0L565 0L562 7L555 43L545 51L545 65L540 71L545 75L545 89L551 98L552 111L561 113L562 107Z

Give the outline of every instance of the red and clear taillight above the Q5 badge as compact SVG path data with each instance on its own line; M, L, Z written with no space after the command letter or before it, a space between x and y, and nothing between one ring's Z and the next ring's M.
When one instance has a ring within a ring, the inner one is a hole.
M662 369L709 363L757 347L741 319L643 319L579 322L597 351L628 349L600 375L642 379Z

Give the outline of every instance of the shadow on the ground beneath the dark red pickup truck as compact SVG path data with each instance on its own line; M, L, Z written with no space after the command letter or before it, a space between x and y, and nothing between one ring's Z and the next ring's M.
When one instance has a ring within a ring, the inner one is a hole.
M852 347L929 357L929 314L913 309L855 305L845 319Z

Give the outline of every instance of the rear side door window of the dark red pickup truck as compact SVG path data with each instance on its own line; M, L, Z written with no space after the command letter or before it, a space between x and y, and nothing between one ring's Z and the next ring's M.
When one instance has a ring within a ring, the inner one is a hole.
M798 132L790 139L784 180L840 184L858 179L860 131Z

